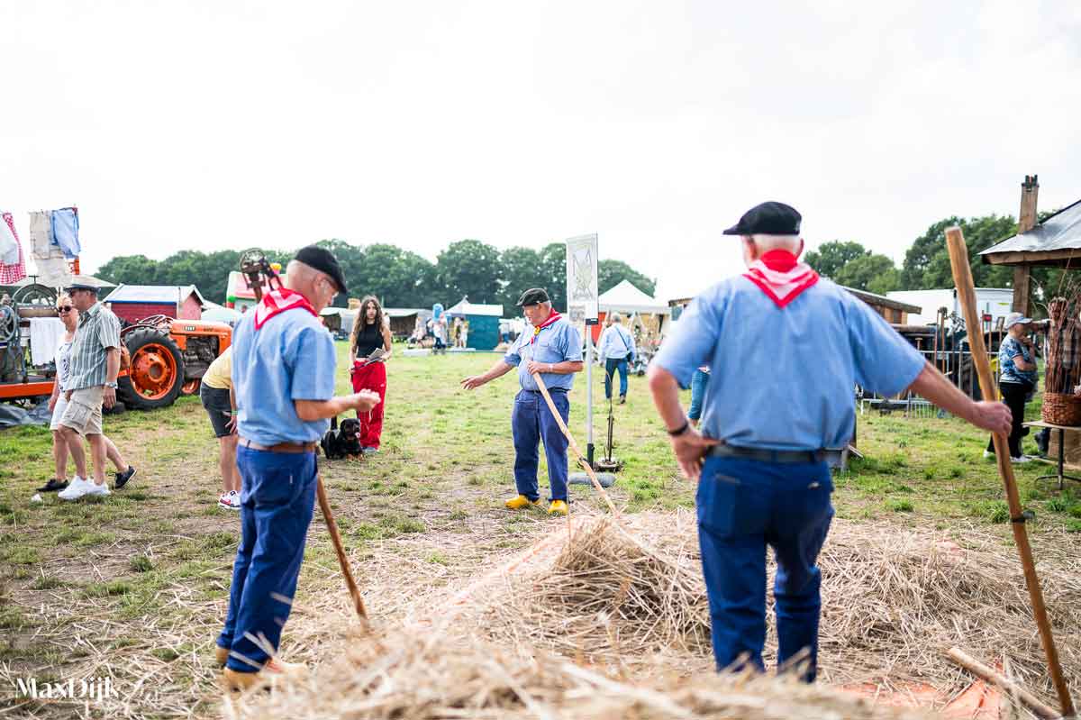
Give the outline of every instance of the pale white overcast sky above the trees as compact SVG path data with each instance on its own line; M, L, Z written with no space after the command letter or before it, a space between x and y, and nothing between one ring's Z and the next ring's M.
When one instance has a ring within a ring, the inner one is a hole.
M0 209L117 254L598 232L660 298L762 200L899 263L1081 198L1081 2L0 0ZM362 292L363 289L358 289Z

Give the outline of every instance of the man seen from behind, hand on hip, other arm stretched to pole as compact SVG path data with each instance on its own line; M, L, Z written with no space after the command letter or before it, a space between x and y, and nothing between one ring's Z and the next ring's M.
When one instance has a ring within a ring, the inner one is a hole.
M724 230L743 239L746 274L695 298L650 364L654 403L682 474L698 479L698 541L719 669L764 669L765 552L777 559L777 665L804 657L814 680L820 576L832 482L825 457L855 427L856 383L912 389L992 432L1010 410L973 402L863 302L798 262L800 215L779 202ZM702 432L679 387L708 364Z

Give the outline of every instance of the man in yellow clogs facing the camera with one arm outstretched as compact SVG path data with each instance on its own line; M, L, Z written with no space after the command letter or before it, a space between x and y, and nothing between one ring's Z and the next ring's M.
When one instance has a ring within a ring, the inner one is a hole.
M531 326L519 335L502 360L483 375L462 381L462 387L467 390L478 388L507 374L511 368L518 368L518 383L522 389L515 397L515 408L510 412L518 495L508 499L506 506L520 510L540 504L537 442L544 440L551 492L548 515L566 515L568 441L540 395L534 374L544 381L563 423L566 423L571 415L571 401L566 394L573 386L574 373L582 372L583 368L582 336L562 315L551 309L548 293L540 288L522 293L518 305Z

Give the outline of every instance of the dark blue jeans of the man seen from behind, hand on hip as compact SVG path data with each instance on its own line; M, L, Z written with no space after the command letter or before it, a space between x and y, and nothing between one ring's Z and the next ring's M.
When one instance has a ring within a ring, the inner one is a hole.
M707 458L698 482L698 543L718 669L764 670L769 545L777 559L777 664L783 667L806 649L809 665L800 679L814 681L822 610L815 562L833 517L832 490L826 463Z

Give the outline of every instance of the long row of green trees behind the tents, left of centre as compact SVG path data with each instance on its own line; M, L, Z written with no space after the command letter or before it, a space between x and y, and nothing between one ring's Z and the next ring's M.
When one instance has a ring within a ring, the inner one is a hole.
M317 244L337 257L345 274L349 295L375 295L385 307L431 307L454 304L468 296L471 303L503 305L504 315L515 315L515 303L529 288L545 288L558 308L566 307L566 245L552 242L539 250L515 246L499 250L480 240L452 242L436 262L397 245L355 245L345 240L322 240ZM120 255L95 274L103 280L139 285L188 285L203 296L225 303L230 270L240 269L240 250L204 253L183 250L165 259L146 255ZM285 264L296 251L267 251L271 262ZM600 292L623 280L652 295L656 280L616 259L598 262ZM335 305L345 307L347 297Z

